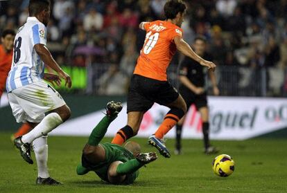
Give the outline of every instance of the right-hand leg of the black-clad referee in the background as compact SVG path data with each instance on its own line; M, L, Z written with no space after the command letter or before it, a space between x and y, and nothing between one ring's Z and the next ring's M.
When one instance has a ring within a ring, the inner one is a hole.
M205 146L205 154L216 154L218 149L212 147L209 141L209 109L207 106L200 107L198 109L202 119L202 134L203 134L203 143Z

